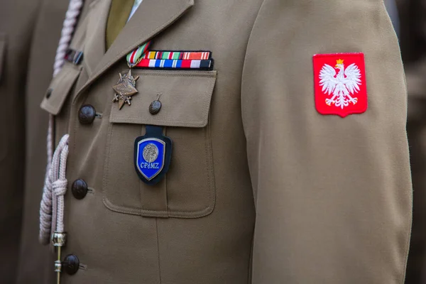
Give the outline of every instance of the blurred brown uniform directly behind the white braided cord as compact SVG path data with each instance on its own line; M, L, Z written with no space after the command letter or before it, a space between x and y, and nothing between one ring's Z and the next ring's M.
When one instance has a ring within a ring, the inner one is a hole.
M29 4L32 1L26 2ZM38 219L46 168L45 144L48 129L48 114L40 109L40 100L43 99L50 80L52 80L56 48L70 1L40 0L40 2L36 21L31 23L31 28L33 27L31 45L20 43L17 46L17 48L25 49L31 56L28 68L26 67L27 64L16 65L16 67L19 67L18 70L28 71L25 106L26 171L25 175L23 172L19 173L18 178L14 180L14 182L25 180L21 251L17 266L17 283L19 284L53 283L55 276L52 266L53 260L51 260L53 254L48 247L41 246L38 242ZM11 16L17 18L18 21L23 21L26 17L21 16L22 13L33 10L30 6L21 6L18 13ZM19 84L21 87L25 87L25 78L19 81ZM3 106L7 109L6 104L3 104ZM23 130L23 126L20 129Z

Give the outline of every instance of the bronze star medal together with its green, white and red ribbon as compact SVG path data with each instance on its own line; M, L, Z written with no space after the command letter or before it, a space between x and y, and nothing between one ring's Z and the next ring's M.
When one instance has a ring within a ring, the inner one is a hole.
M136 89L136 81L139 79L139 76L133 77L131 75L131 68L136 66L143 55L148 52L148 47L151 41L144 43L138 48L134 49L131 53L126 56L127 65L129 65L129 72L127 74L119 73L119 82L112 86L114 89L114 99L112 102L119 102L119 109L121 109L124 104L131 105L131 97L135 94L138 94L138 89Z

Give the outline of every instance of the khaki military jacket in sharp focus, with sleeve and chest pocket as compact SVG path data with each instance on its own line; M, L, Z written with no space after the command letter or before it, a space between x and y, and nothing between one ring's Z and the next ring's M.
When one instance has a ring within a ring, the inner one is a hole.
M110 2L85 4L70 45L82 63L65 62L41 104L56 143L70 134L62 253L80 269L63 283L403 283L407 97L383 1L144 0L105 52ZM148 40L210 50L214 68L133 69L138 94L119 109L111 87ZM364 53L364 114L315 110L324 53ZM147 125L173 140L157 185L133 165Z

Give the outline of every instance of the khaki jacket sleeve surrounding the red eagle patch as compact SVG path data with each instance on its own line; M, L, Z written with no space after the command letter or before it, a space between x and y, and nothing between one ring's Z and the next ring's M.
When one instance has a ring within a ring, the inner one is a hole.
M364 53L368 108L315 109L312 55ZM403 283L412 186L398 41L380 0L265 0L241 108L253 284Z

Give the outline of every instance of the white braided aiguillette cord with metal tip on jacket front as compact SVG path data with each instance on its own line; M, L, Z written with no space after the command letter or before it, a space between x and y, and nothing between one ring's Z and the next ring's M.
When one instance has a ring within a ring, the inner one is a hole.
M83 0L70 0L60 33L58 49L56 50L53 77L58 75L65 62L65 54L70 45L82 6ZM53 246L58 248L58 260L55 261L55 272L58 273L57 283L60 281L60 271L62 270L60 251L66 241L64 232L64 195L67 191L68 183L65 178L68 157L68 139L68 134L62 136L55 153L52 155L53 115L50 114L47 137L48 163L46 167L45 184L43 186L43 197L40 203L40 233L38 238L40 243L49 244L50 237L52 237Z

